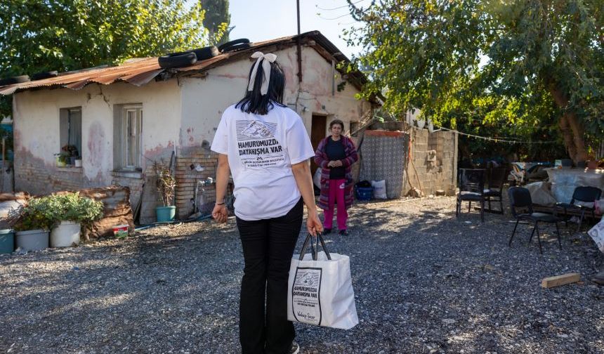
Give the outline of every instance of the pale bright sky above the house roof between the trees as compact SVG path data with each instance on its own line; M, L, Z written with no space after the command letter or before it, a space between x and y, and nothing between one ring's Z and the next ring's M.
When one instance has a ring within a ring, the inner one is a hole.
M357 6L371 3L356 1ZM265 41L298 32L296 0L230 0L229 10L231 26L235 26L230 39ZM301 32L320 31L348 58L360 51L340 38L343 29L359 26L350 16L346 0L300 0L300 22Z

